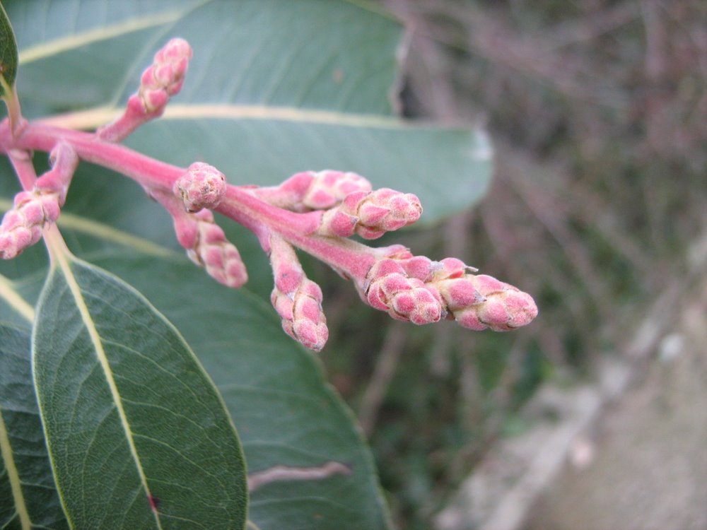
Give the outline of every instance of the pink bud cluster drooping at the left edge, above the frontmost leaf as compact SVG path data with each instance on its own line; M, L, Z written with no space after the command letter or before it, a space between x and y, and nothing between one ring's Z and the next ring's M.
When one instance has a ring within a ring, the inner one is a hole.
M3 216L0 223L1 259L12 259L34 245L42 237L45 225L59 218L78 157L71 146L59 143L49 161L52 169L35 180L32 191L18 193L13 208Z

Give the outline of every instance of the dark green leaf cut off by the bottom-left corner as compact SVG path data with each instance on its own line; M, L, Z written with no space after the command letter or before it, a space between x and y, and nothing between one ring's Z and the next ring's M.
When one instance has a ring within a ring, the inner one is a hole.
M32 381L30 336L0 324L0 528L68 529Z

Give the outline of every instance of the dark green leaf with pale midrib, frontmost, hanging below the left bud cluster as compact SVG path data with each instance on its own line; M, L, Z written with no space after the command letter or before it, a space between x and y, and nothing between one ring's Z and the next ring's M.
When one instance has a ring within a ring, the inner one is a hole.
M243 528L240 443L187 343L115 276L62 251L54 259L33 367L72 526Z

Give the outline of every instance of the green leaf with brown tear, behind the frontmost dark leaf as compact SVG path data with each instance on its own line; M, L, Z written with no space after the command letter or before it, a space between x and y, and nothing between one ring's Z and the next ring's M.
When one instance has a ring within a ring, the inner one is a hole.
M249 518L260 530L390 528L373 459L351 412L325 381L316 355L284 334L267 302L223 288L185 259L125 250L92 259L127 278L185 335L238 425L250 473L331 461L349 467L349 474L257 488Z

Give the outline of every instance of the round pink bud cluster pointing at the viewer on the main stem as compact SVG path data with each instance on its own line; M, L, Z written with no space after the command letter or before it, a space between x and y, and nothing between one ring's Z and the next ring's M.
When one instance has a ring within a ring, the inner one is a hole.
M216 208L226 194L226 177L212 165L195 162L177 179L174 192L187 211Z

